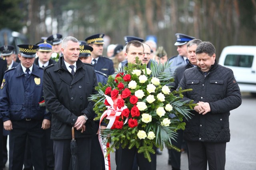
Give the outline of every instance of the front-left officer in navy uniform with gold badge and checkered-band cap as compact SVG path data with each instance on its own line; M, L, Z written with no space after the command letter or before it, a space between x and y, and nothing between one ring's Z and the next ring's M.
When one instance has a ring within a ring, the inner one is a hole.
M0 113L9 134L9 170L21 170L28 137L35 170L46 166L44 129L50 113L38 104L44 100L43 69L36 66L37 45L18 45L20 63L7 70L0 89Z

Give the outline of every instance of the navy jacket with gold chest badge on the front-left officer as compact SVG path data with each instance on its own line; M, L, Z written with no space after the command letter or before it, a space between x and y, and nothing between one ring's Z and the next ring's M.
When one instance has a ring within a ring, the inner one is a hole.
M19 63L4 75L0 90L0 112L3 121L50 119L50 113L38 104L44 100L43 69L33 64L30 76L24 74Z

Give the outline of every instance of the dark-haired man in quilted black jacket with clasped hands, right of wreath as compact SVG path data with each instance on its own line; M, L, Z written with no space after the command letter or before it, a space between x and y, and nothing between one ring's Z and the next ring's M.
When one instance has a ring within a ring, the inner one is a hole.
M198 104L184 130L190 170L206 170L207 162L209 169L225 169L230 110L242 103L233 71L217 64L215 53L212 43L200 43L196 48L197 67L185 70L178 86L192 88L183 99Z

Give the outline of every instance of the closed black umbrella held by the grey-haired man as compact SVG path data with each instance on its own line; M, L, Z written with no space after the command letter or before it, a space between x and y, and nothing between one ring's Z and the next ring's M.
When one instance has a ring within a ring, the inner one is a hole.
M72 140L70 142L70 152L71 152L71 158L70 158L70 164L69 169L70 170L78 170L78 156L77 156L77 145L76 145L76 139L75 139L75 129L72 127Z

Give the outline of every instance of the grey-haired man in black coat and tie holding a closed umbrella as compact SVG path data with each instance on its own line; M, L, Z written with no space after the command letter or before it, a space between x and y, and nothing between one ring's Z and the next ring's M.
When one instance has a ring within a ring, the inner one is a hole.
M63 56L58 63L44 69L44 97L46 108L52 113L51 139L54 141L56 170L68 170L72 127L76 129L79 170L90 169L95 113L94 104L87 98L97 93L97 78L91 64L78 60L79 50L76 38L64 38Z

